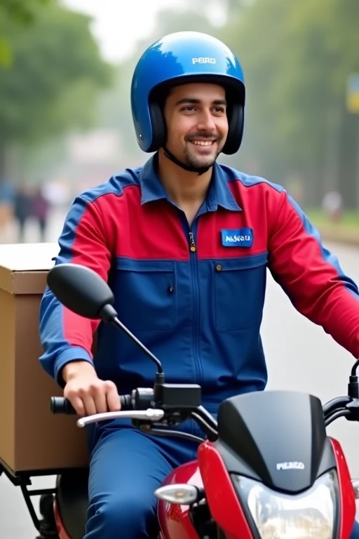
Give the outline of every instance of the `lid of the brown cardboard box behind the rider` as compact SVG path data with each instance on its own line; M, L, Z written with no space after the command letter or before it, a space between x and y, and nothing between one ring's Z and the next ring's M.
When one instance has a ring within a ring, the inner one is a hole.
M56 243L0 245L0 288L13 294L41 294L58 254Z

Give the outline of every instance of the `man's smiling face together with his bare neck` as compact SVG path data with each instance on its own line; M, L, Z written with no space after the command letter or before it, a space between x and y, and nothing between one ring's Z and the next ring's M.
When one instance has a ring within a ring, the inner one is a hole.
M212 166L226 143L226 91L218 84L182 84L159 101L167 138L158 155L158 175L191 225L205 200Z

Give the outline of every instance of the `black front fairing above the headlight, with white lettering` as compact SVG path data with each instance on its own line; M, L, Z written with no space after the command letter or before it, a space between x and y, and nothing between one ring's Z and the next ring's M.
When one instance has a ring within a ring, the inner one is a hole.
M219 406L215 442L226 469L286 493L298 493L336 466L323 408L313 395L255 392Z

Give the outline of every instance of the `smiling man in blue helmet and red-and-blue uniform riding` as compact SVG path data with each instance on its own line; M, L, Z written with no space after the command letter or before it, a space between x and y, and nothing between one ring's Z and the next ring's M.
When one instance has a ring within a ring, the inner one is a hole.
M196 32L165 36L140 58L131 102L137 141L156 153L76 198L57 263L107 279L119 318L161 359L166 380L201 384L211 413L266 386L267 265L297 310L358 357L358 288L318 232L282 187L216 163L243 133L243 72L229 48ZM96 329L46 291L41 364L79 415L119 410L118 394L154 382L148 357L111 326L98 328L94 364ZM123 420L94 427L85 538L153 536L154 490L196 448Z

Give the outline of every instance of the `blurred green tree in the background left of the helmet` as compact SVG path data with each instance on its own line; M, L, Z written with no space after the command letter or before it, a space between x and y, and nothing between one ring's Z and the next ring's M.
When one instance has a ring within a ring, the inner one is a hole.
M111 81L90 18L50 2L32 25L7 25L13 62L0 77L0 177L12 142L39 142L95 121L94 100Z

